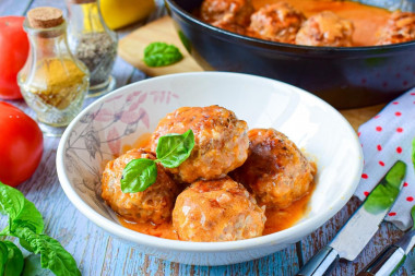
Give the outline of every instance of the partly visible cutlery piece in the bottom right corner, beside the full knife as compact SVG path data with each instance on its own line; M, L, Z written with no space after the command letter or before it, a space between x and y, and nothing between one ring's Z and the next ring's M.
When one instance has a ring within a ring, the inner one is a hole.
M415 206L411 211L415 217ZM414 223L414 221L413 221ZM394 244L387 247L358 276L389 276L405 262L406 255L415 245L415 225Z

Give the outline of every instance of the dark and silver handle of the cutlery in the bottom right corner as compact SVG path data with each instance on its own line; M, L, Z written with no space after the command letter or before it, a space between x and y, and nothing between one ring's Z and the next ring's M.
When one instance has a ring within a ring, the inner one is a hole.
M357 276L389 276L405 261L405 252L398 245L389 245Z

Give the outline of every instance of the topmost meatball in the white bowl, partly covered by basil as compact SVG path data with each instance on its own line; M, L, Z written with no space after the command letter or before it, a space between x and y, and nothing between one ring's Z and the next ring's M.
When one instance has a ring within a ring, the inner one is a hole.
M179 167L168 169L177 181L221 178L247 159L247 123L220 106L182 107L167 115L152 135L152 151L157 148L159 136L182 134L189 129L194 134L193 151Z

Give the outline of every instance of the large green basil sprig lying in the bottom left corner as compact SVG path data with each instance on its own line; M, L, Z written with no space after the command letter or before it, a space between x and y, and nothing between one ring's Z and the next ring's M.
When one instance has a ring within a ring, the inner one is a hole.
M72 255L57 240L42 233L44 219L35 205L19 190L1 182L0 213L9 216L9 225L0 232L0 236L19 238L20 244L27 251L40 254L42 267L50 269L55 275L81 275ZM10 243L9 241L0 242L0 276L20 275L23 269L22 252Z

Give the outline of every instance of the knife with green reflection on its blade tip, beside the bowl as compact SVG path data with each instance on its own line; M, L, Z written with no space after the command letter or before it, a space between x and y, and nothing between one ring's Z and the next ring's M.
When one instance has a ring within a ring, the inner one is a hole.
M355 260L378 231L392 207L402 189L405 172L406 164L396 161L334 239L315 255L297 276L321 276L330 271L339 259Z

